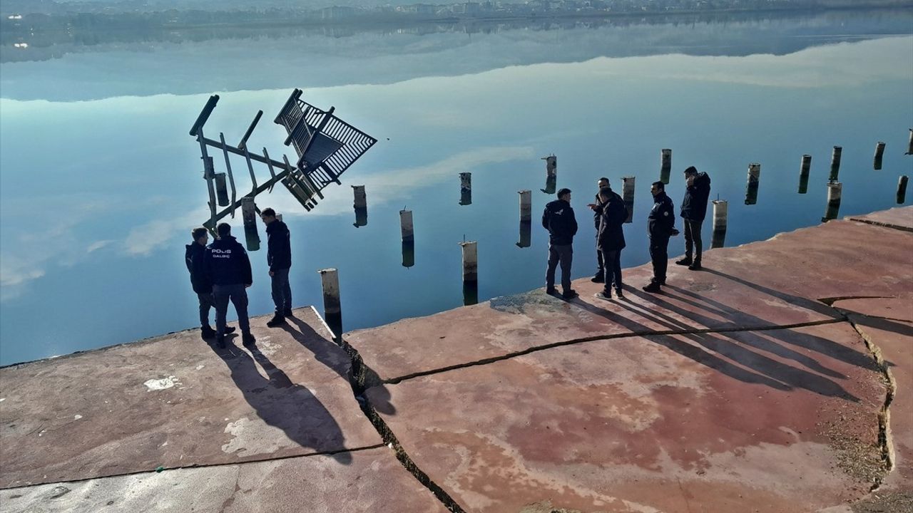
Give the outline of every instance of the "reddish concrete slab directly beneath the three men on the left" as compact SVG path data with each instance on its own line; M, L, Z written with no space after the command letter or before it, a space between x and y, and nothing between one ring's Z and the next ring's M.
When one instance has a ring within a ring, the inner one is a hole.
M251 319L253 350L188 330L0 369L0 487L382 443L316 312L268 319Z

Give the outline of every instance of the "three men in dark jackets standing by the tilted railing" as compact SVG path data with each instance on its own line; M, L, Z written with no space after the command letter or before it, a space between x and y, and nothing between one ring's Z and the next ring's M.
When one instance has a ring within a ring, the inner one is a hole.
M289 227L276 216L272 208L260 212L260 219L267 226L267 263L272 282L273 303L276 314L267 322L270 328L283 324L291 317L291 239ZM215 338L220 349L226 347L226 334L235 331L226 326L228 303L235 305L241 340L246 346L257 340L250 332L247 318L247 288L254 284L250 258L244 246L231 235L231 225L220 223L215 227L218 238L209 242L209 232L204 227L194 228L194 242L186 246L184 260L190 272L190 282L200 303L200 336L204 340ZM215 330L209 325L209 310L215 307Z

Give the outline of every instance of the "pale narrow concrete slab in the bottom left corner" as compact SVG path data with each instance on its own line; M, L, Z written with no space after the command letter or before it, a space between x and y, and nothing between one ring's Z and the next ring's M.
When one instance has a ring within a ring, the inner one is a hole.
M446 513L386 447L348 463L312 455L10 488L0 504L8 513Z

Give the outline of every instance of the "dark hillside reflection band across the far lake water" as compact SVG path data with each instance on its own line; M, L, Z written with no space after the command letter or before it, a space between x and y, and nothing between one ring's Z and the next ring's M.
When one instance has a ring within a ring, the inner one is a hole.
M4 98L13 99L191 94L211 91L214 85L222 90L262 89L263 73L275 74L277 88L301 86L296 75L307 78L306 87L383 84L597 57L784 55L806 47L911 32L913 10L909 9L403 27L83 31L37 34L27 48L5 41L0 47L4 67L0 83ZM52 76L63 78L64 83L43 87L40 80Z

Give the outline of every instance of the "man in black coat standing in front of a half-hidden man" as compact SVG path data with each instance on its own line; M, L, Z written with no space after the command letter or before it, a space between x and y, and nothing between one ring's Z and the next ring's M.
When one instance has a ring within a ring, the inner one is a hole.
M608 182L608 181L606 181ZM612 287L615 296L623 298L622 293L622 261L621 254L624 249L624 230L622 225L627 220L627 207L624 200L615 194L611 187L606 185L599 191L600 204L596 209L600 213L599 232L596 236L596 246L605 263L602 292L597 292L596 297L601 299L612 298Z

